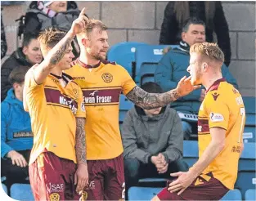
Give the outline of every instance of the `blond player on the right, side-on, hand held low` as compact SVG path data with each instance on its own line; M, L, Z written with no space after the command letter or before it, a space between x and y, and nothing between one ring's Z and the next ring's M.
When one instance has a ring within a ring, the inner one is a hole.
M222 78L224 54L217 44L195 43L187 71L192 84L203 84L206 95L198 114L199 159L188 172L177 172L154 201L219 200L234 189L243 150L245 105L240 92Z

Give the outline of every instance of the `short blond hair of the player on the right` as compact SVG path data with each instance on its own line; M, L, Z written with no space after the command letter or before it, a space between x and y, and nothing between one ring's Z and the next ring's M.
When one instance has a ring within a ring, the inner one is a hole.
M218 47L217 43L202 42L195 43L191 46L190 53L198 53L201 56L207 56L209 60L217 60L218 62L224 62L224 53Z

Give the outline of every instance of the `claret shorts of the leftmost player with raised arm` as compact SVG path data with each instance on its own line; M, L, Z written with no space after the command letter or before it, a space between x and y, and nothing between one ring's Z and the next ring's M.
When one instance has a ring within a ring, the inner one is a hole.
M29 180L35 200L79 200L75 192L76 164L52 152L43 152L29 165Z

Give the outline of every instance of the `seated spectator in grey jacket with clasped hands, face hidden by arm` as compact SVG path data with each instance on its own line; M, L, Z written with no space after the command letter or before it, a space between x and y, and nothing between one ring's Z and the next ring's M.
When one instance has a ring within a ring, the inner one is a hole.
M144 83L141 88L150 93L163 92L156 83ZM188 170L182 161L182 123L174 109L135 106L124 119L121 135L126 196L128 188L137 185L140 178L169 178L171 172Z

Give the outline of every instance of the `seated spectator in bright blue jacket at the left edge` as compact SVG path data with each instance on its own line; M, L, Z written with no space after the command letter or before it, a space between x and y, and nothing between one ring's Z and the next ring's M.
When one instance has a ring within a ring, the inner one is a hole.
M10 188L29 176L29 155L33 146L29 113L23 108L23 87L29 67L20 66L10 74L12 88L1 103L1 176Z

